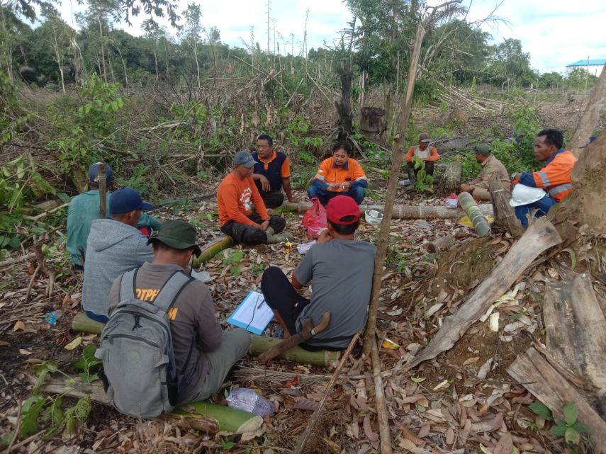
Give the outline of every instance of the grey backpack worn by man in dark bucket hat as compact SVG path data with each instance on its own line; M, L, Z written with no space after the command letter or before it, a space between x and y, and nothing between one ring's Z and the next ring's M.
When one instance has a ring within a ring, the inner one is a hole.
M120 302L103 327L95 356L103 361L109 402L124 414L152 419L178 403L168 312L193 278L175 271L154 302L144 302L135 296L137 271L122 276Z

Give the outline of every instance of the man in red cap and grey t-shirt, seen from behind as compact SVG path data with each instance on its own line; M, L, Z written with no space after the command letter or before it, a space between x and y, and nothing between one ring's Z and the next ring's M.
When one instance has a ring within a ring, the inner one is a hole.
M328 228L311 246L293 271L292 283L276 266L267 268L261 279L265 301L289 337L301 331L303 320L317 326L324 312L330 323L303 346L308 350L341 350L366 324L372 287L376 248L357 241L354 234L360 222L355 201L344 195L332 198L326 208ZM311 300L297 290L313 282Z

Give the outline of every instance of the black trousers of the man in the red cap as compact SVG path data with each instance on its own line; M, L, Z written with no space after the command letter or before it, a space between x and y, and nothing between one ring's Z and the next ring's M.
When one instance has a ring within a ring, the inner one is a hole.
M286 275L277 266L265 268L261 278L261 291L267 305L280 314L288 331L295 334L297 332L297 318L310 301L298 294ZM342 348L319 347L308 344L299 344L299 346L307 351L342 350Z

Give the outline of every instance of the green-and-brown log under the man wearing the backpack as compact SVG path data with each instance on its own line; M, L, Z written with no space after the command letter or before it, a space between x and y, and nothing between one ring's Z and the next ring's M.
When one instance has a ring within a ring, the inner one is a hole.
M99 404L109 405L101 381L83 383L79 378L47 378L41 389L49 394L67 395L69 397L89 396ZM210 402L191 402L170 414L159 416L180 427L187 427L217 433L218 431L245 433L259 429L263 424L261 416L242 410L232 409Z

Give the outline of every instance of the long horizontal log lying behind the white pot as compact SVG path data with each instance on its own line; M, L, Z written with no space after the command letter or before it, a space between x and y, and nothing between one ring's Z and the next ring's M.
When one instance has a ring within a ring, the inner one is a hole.
M288 210L293 210L299 214L311 208L311 203L286 203ZM483 215L493 215L493 205L479 205ZM360 205L360 213L364 214L366 210L381 210L385 212L383 205ZM432 205L394 205L391 213L392 219L460 219L465 215L463 210L453 210L452 208L432 206Z

